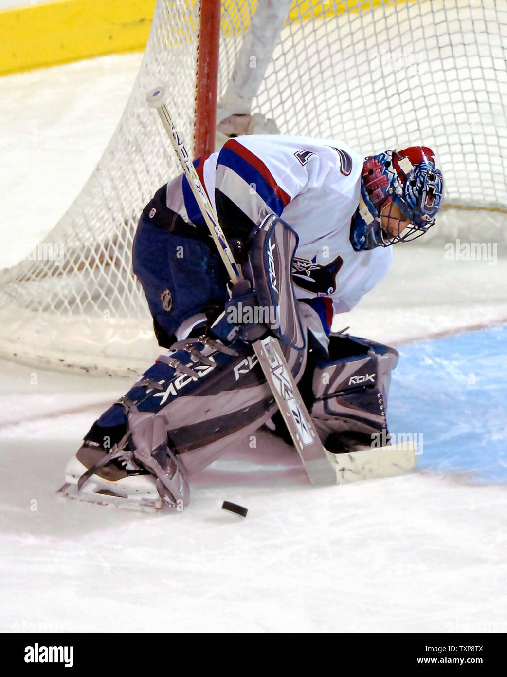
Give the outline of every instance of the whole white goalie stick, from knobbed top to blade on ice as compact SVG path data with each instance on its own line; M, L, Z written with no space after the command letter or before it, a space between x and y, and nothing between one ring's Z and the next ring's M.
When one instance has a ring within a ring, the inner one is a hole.
M172 148L178 156L180 165L187 177L189 186L193 192L197 205L201 210L206 225L210 230L210 234L216 244L218 253L226 267L231 282L235 284L241 280L241 271L237 267L231 248L222 232L218 217L214 212L213 206L208 199L206 190L204 190L201 180L195 171L187 149L183 141L178 135L176 127L170 117L166 106L166 91L164 87L155 87L147 94L147 103L151 108L155 108L160 116L162 125L168 133ZM341 483L341 481L352 481L352 479L362 479L362 461L366 463L366 475L370 477L379 477L381 475L371 470L371 462L373 459L372 452L378 454L380 449L365 450L364 452L354 452L354 454L330 454L322 445L318 433L308 413L295 380L291 374L291 370L287 365L285 357L281 351L279 341L274 336L268 336L266 339L261 339L253 344L254 351L259 360L259 364L266 376L268 385L272 391L276 404L283 416L283 420L289 429L291 438L293 439L295 448L303 462L306 473L313 484L330 485ZM385 450L394 449L394 447L383 447ZM362 454L362 456L356 456ZM403 458L400 458L402 456ZM397 469L394 472L400 472L401 469L408 469L412 467L415 462L414 450L408 454L410 458L405 458L406 455L398 453L395 455L395 466ZM352 467L347 465L348 464ZM360 460L362 459L362 461ZM387 458L385 459L387 460ZM400 462L406 466L406 461L410 462L407 467L401 468ZM368 471L368 465L370 466ZM379 465L379 459L375 463ZM392 464L389 464L391 471L385 474L392 475ZM345 476L349 479L345 479Z

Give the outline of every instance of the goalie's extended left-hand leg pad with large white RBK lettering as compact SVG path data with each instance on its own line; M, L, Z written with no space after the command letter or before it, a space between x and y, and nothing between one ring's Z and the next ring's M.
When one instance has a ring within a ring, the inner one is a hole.
M129 431L134 460L186 504L189 475L258 429L276 403L253 349L241 339L228 346L212 339L187 339L174 348L104 412L87 437L97 445L107 438L110 448ZM284 354L299 380L306 351L285 347ZM166 479L172 484L164 483Z

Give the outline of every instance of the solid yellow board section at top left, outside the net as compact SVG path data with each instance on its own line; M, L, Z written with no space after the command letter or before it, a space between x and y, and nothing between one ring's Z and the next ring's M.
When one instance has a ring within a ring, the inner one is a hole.
M0 74L143 50L155 0L66 0L0 12Z

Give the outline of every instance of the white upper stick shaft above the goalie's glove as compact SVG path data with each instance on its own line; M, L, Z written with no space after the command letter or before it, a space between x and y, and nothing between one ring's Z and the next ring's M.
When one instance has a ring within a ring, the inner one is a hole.
M206 225L208 225L208 228L210 229L210 234L216 244L216 247L218 248L218 253L220 254L220 257L222 257L222 261L224 262L224 266L227 269L231 281L233 284L236 284L236 282L241 280L241 273L237 267L231 247L228 246L224 232L220 227L220 223L218 223L218 217L214 212L213 206L208 198L208 195L206 194L206 190L204 190L201 179L199 179L199 176L195 171L195 167L189 158L187 149L185 148L183 141L180 139L178 131L176 130L176 127L174 127L174 124L171 120L171 116L165 104L165 94L164 87L156 87L147 95L147 102L151 108L156 108L158 114L160 115L162 125L164 125L166 128L172 148L174 148L174 151L178 156L178 160L180 161L180 165L189 181L189 186L193 192L193 196L195 197L195 200L197 200L197 204L201 210L204 220L206 221Z

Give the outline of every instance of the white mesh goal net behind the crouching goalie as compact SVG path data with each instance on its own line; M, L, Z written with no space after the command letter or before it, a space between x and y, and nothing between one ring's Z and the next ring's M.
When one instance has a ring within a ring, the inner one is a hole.
M265 1L222 0L218 97ZM157 1L137 80L99 164L37 250L0 273L2 356L137 374L158 355L132 275L132 239L143 206L180 170L145 94L166 84L190 146L201 9L216 4ZM209 43L212 64L218 45ZM506 55L506 0L295 0L252 112L274 118L281 133L344 139L364 154L431 146L445 209L423 240L465 233L469 240L477 228L480 241L499 242L507 210ZM204 80L212 83L213 72ZM210 137L199 125L195 144L206 148ZM54 247L63 248L62 261Z

